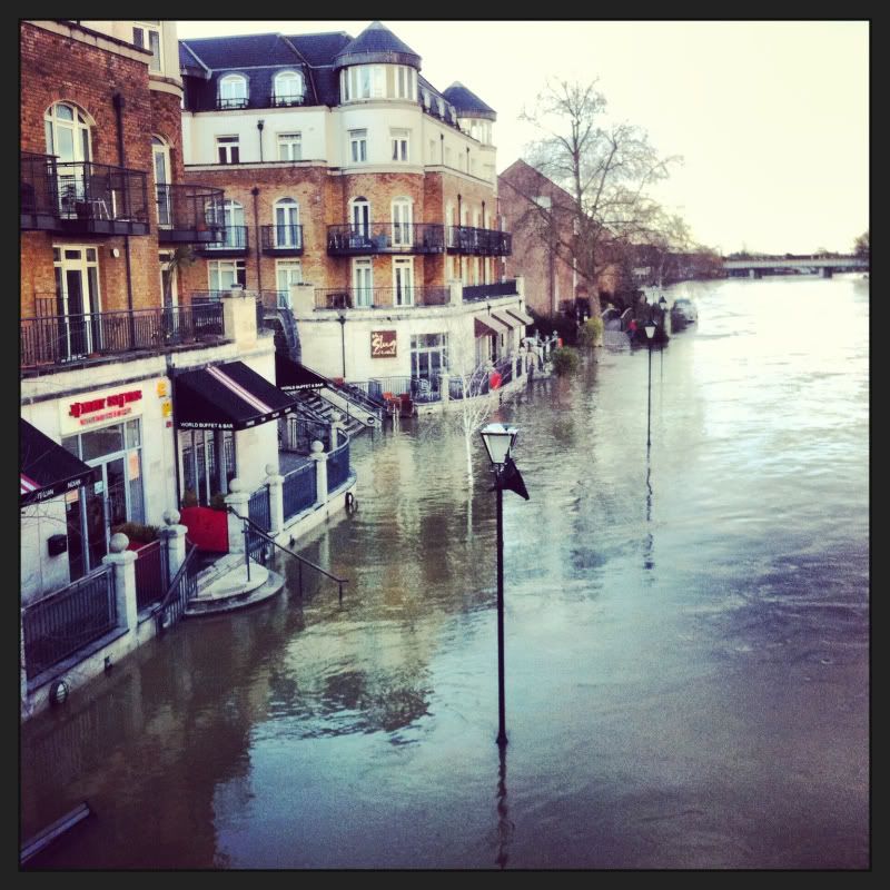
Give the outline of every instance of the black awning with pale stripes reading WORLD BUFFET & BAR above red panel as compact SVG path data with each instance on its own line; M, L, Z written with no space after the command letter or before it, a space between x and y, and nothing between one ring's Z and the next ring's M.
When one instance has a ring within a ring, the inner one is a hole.
M174 416L180 429L248 429L291 411L296 399L244 362L227 362L174 377Z

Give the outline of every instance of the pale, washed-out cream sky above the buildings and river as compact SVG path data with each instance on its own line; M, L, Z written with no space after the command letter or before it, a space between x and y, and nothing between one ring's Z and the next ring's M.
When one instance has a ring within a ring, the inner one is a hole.
M497 170L535 131L547 78L589 82L610 121L682 156L654 196L723 254L850 251L869 228L868 21L402 21L436 89L497 112ZM365 21L180 21L180 38L346 31Z

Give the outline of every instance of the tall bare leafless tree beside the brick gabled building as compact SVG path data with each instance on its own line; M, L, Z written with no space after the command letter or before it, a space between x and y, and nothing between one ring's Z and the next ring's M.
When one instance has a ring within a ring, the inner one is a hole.
M640 127L607 122L596 82L548 80L521 119L542 134L528 148L528 164L571 197L568 207L536 205L534 212L556 255L585 283L591 310L599 315L600 275L623 247L646 243L664 221L649 189L680 158L660 157Z

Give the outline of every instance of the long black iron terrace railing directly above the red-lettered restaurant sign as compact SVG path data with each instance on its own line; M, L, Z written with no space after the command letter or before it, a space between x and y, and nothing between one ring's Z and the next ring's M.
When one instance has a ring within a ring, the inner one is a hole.
M21 367L62 365L138 349L165 349L222 336L222 305L22 318Z

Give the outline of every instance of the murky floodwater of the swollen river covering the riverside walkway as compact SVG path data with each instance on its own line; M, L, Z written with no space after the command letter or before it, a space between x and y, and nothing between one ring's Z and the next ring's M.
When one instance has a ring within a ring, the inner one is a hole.
M186 621L21 732L43 868L866 868L868 281L681 285L698 325L496 418L354 443L349 577Z

